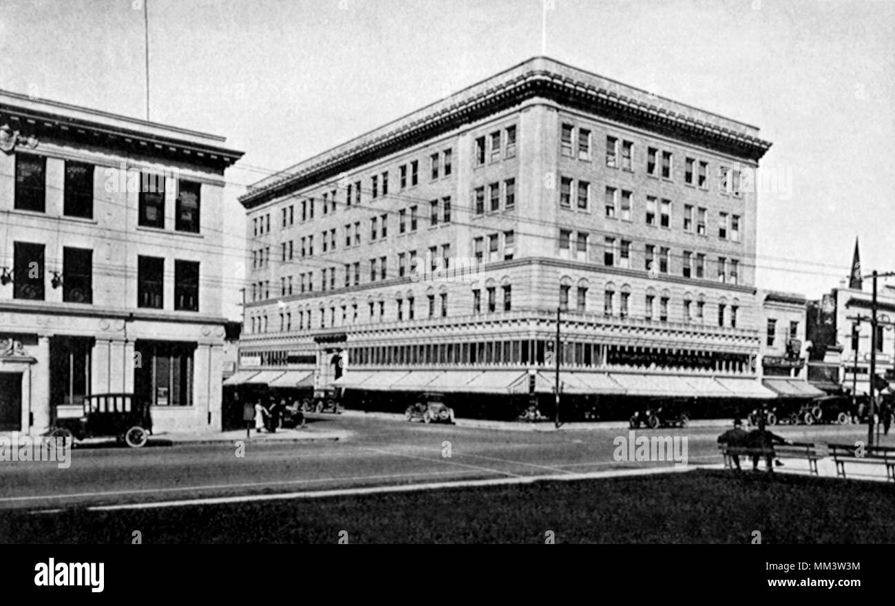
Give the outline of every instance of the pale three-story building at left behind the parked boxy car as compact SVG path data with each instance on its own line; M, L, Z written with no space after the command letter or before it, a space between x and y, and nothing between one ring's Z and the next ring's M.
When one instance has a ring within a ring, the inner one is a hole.
M0 92L0 431L132 391L219 429L224 142Z

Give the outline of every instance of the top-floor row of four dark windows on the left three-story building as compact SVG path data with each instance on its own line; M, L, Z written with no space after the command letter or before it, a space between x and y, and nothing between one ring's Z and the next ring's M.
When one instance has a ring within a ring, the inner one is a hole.
M111 170L111 169L107 169ZM74 218L93 218L94 174L96 166L85 162L64 160L63 215ZM137 225L165 228L166 174L134 171L123 179L107 176L107 192L121 189L131 191L132 181L139 175ZM122 183L124 181L124 184ZM174 179L175 231L198 234L200 231L201 184L187 179ZM13 208L31 212L47 212L47 157L34 154L15 155L15 192Z

